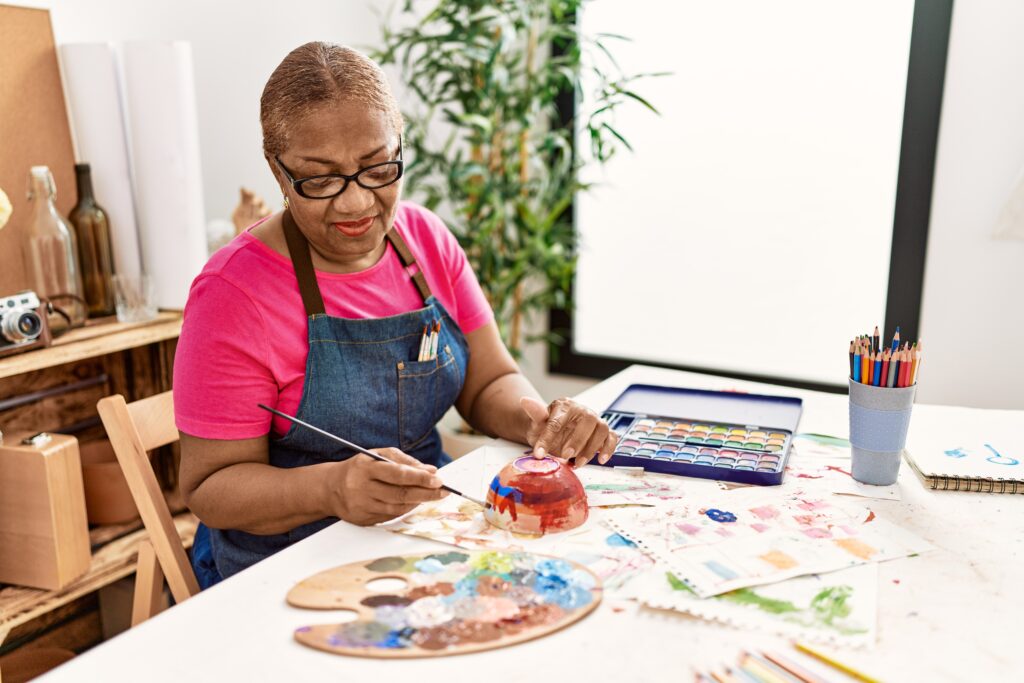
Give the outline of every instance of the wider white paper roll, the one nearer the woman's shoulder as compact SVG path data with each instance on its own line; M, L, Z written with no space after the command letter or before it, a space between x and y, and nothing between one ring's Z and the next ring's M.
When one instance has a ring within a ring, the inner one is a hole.
M133 42L120 51L142 268L161 308L183 308L207 258L191 46Z

